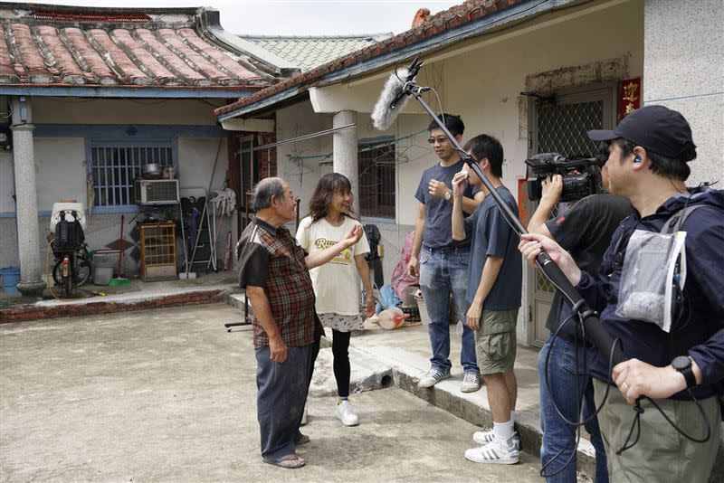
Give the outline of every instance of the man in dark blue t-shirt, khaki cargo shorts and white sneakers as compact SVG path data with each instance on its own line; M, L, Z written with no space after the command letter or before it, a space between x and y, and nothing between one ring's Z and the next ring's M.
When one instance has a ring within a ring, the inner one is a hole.
M503 164L500 141L481 134L473 137L465 149L478 161L503 203L518 216L515 198L500 179ZM471 184L482 186L486 196L475 213L464 220L460 201L462 189ZM516 253L519 235L506 222L475 172L464 170L455 175L452 189L452 236L459 241L470 240L473 252L468 278L470 309L466 322L475 331L478 363L488 388L493 426L489 431L477 431L472 435L472 440L482 446L466 450L465 458L477 463L517 463L520 438L514 424L518 382L513 367L523 271L522 260Z

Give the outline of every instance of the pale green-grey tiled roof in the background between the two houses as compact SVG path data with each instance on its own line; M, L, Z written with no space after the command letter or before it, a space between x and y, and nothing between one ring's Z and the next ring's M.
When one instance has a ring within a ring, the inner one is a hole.
M392 33L373 35L336 36L336 37L289 37L239 35L246 41L255 43L265 51L272 52L291 62L302 71L310 71L320 65L364 49L381 40L392 37Z

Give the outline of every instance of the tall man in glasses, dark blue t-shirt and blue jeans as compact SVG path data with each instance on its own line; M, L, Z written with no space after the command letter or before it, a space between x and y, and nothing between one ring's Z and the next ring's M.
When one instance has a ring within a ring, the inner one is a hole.
M461 118L442 114L440 119L460 142L465 129ZM430 317L428 332L433 357L430 359L430 371L422 377L419 387L432 387L450 377L450 296L452 294L462 321L468 311L465 289L470 260L470 243L455 242L451 232L452 176L462 169L464 163L434 120L428 130L428 142L440 162L424 171L414 195L420 205L414 223L413 251L407 264L408 273L413 276L419 273L420 289ZM470 187L464 194L463 210L472 213L481 200L481 191ZM481 387L481 375L475 358L475 337L468 327L462 330L460 359L464 372L461 391L477 391Z

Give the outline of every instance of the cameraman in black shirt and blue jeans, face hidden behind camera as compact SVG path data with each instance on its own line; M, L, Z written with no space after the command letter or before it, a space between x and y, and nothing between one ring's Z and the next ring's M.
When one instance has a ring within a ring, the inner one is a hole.
M608 185L605 169L601 175L604 186ZM528 231L552 238L571 254L582 270L595 273L611 235L633 212L633 207L614 194L591 194L577 201L566 215L548 220L558 204L563 184L561 175L552 175L543 181L538 209L530 218ZM551 400L555 398L555 407L567 421L578 421L581 411L585 421L595 412L594 387L590 377L584 374L584 343L576 335L575 321L569 320L561 327L557 338L554 336L570 313L570 307L556 292L546 320L550 335L538 353L540 427L543 430L540 462L543 474L551 475L546 478L548 483L576 483L576 448L573 444L576 429L561 419ZM604 441L595 417L586 423L586 431L595 448L595 481L605 483L608 470Z

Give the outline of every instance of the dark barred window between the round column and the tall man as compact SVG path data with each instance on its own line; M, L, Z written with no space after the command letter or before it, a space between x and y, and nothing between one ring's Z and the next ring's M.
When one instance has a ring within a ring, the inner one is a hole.
M358 142L359 213L395 218L395 143L393 137Z

